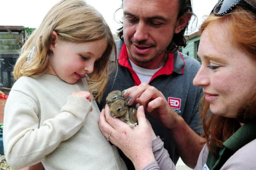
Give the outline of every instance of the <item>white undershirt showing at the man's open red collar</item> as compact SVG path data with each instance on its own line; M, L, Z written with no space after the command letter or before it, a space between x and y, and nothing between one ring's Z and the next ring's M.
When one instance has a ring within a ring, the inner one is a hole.
M150 79L152 78L152 76L158 71L160 70L163 66L161 66L160 68L157 69L147 69L147 68L142 68L137 66L136 64L132 63L132 61L129 59L132 69L136 72L136 74L138 75L140 82L142 83L148 83L150 81Z

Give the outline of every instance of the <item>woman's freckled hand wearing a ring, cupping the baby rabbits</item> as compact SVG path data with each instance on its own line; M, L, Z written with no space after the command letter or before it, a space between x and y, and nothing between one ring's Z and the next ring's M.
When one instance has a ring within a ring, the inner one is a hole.
M120 148L136 169L142 169L148 163L155 161L152 140L156 135L145 117L143 106L138 107L137 119L138 126L130 128L118 118L111 117L109 106L106 105L100 113L98 124L106 139Z

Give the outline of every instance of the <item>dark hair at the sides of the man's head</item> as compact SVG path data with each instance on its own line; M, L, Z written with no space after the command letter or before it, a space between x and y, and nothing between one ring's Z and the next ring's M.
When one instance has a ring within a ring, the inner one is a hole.
M192 5L191 5L191 0L179 0L180 4L179 4L179 14L178 14L178 18L180 18L181 16L183 16L184 14L191 14L196 18L196 15L193 13L192 11ZM123 0L122 0L122 6L119 9L123 8ZM118 9L118 10L119 10ZM122 21L120 21L120 23L124 24ZM186 29L188 28L188 23L186 24L186 26L179 32L179 33L174 33L174 36L172 38L172 42L168 45L166 52L170 52L170 51L175 51L177 49L179 49L180 46L182 47L186 47L187 42L186 39L188 36L184 35ZM118 37L120 37L120 39L122 41L124 41L124 37L123 37L123 33L124 33L124 25L122 25L122 27L120 27L118 30Z

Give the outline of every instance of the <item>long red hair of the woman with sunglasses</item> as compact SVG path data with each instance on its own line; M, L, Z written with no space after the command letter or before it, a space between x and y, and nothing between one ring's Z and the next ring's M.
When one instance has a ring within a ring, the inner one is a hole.
M255 4L255 1L254 1ZM212 23L227 23L230 40L234 48L240 48L250 57L256 59L256 14L237 6L230 14L224 16L210 15L201 25L200 33ZM212 28L214 29L214 28ZM214 37L212 37L214 38ZM241 56L244 57L244 56ZM242 101L236 118L222 117L211 114L208 117L210 104L202 98L200 108L204 126L204 136L209 150L213 153L214 147L223 147L223 142L233 135L240 127L240 123L256 122L256 88L246 101ZM215 153L216 154L216 153Z

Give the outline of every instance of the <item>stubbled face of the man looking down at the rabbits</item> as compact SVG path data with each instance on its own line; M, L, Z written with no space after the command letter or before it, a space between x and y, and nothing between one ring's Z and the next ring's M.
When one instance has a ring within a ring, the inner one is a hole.
M124 42L130 60L158 68L174 33L179 33L178 0L124 0Z

